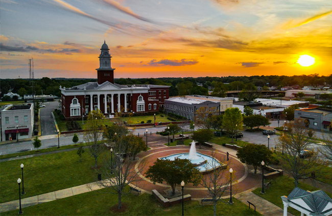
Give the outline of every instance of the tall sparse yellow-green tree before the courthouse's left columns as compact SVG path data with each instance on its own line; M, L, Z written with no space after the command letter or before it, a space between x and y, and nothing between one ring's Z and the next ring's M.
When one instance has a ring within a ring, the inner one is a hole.
M98 168L97 159L105 150L104 146L99 143L99 141L102 140L105 131L103 120L104 115L100 110L90 111L84 130L84 141L91 143L91 145L88 146L88 153L94 158L94 168Z

